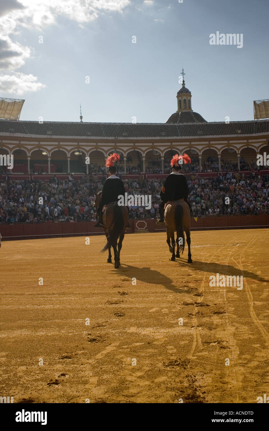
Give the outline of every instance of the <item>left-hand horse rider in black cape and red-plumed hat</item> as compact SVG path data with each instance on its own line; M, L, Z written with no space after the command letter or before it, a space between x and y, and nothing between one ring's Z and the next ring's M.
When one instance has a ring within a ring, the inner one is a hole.
M124 196L124 193L125 193L124 184L123 184L123 181L116 176L117 168L116 166L114 166L114 163L119 160L120 160L120 155L117 153L113 153L107 158L106 166L108 167L109 177L104 181L101 199L97 209L98 223L95 225L95 228L104 227L102 224L103 206L118 200L119 195Z

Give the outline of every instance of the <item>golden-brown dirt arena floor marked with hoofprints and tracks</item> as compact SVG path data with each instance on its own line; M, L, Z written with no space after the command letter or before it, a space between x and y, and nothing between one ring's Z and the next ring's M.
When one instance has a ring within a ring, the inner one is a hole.
M0 395L256 403L269 394L269 230L191 239L187 264L187 249L170 261L165 233L126 235L120 269L99 253L103 236L2 241ZM210 287L216 273L243 275L243 289Z

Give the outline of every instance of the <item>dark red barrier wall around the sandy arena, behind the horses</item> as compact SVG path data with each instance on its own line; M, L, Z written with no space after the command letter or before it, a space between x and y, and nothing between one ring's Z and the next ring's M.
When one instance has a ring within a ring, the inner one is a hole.
M164 232L165 225L156 225L155 219L129 220L130 228L126 233L133 232ZM95 228L96 222L79 223L41 223L22 225L0 225L3 240L21 240L36 238L51 238L79 235L104 235L104 229ZM191 219L192 230L228 229L228 228L258 228L269 227L269 215L234 215L220 217L200 217Z

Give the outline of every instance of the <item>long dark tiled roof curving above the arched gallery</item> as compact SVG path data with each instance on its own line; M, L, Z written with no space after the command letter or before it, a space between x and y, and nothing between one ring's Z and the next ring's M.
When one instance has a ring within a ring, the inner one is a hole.
M191 111L190 111L191 112ZM185 111L182 114L187 114ZM81 122L44 122L0 120L0 135L16 134L24 136L55 136L85 138L117 138L122 141L130 138L167 138L195 136L231 136L269 134L269 120L230 122L205 122L196 112L195 118L203 122L179 123L81 123ZM175 114L173 114L175 115ZM180 114L181 116L181 114ZM171 118L171 117L170 117ZM202 119L202 120L201 120ZM169 121L169 120L168 120ZM49 134L47 134L49 132Z

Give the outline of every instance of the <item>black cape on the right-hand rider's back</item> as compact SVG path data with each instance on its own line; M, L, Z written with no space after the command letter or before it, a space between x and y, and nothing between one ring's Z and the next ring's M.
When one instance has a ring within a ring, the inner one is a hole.
M161 192L161 200L167 202L168 200L184 199L187 202L189 187L184 175L170 174L165 180L165 192Z

